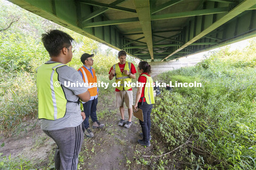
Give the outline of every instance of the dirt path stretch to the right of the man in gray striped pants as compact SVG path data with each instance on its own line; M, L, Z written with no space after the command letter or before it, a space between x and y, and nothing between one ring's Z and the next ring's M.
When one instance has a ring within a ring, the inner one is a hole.
M133 90L135 99L136 89ZM99 107L100 104L99 104ZM95 129L94 138L84 140L83 156L85 157L82 169L141 169L135 163L136 150L148 151L138 145L141 126L136 117L132 117L132 125L129 129L118 126L121 118L119 109L115 108L115 102L111 102L107 112L103 115L103 129ZM128 112L125 109L125 120L128 120ZM143 168L142 168L143 169ZM148 169L148 168L144 168Z

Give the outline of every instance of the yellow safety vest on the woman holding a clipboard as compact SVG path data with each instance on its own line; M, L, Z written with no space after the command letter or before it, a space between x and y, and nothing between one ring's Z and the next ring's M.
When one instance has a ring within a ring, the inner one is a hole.
M154 98L154 88L152 87L153 84L153 79L146 75L146 74L142 74L141 76L144 76L147 78L147 82L145 84L145 88L144 88L144 97L146 99L147 104L155 104L155 98ZM147 83L149 83L147 85ZM147 87L149 86L149 87ZM143 99L142 99L143 101Z

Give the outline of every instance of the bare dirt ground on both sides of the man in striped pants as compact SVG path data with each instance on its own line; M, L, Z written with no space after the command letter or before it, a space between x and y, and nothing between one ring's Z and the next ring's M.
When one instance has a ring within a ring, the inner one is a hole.
M133 98L136 91L137 89L134 88ZM150 147L138 145L141 126L134 116L130 129L118 126L121 116L119 109L115 107L114 93L111 96L99 96L97 114L99 121L105 124L105 128L92 129L94 137L85 137L79 155L78 169L151 169L155 166L141 155L153 155L153 152L159 149L161 141L155 140L156 135L151 133L153 140ZM125 109L125 120L127 119L128 113ZM55 143L39 128L39 123L34 130L20 133L17 137L1 139L0 142L5 143L5 146L0 148L3 156L8 157L11 154L13 158L31 160L40 167L39 169L54 167Z

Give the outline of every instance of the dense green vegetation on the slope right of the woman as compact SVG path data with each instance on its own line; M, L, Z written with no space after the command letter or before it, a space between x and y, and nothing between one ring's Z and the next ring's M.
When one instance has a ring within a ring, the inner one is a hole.
M166 82L203 85L173 88L156 98L154 128L170 150L186 143L173 155L179 158L176 164L187 169L256 168L255 42L241 51L223 48L194 67L158 75Z

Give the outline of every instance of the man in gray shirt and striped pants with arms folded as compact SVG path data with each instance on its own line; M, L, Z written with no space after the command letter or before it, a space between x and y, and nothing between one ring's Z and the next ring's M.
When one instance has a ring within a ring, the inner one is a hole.
M83 83L79 73L66 65L73 57L73 40L59 30L44 33L42 41L50 61L38 67L36 75L38 118L41 119L41 129L57 144L56 169L77 169L85 118L79 98L84 102L91 98L86 87L70 86L70 83Z

